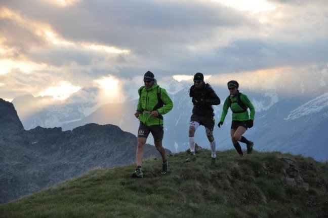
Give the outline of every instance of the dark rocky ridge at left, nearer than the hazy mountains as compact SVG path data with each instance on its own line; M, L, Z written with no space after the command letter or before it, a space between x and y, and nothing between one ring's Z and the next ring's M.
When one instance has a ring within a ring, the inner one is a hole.
M68 131L39 126L24 130L13 104L0 98L0 203L95 167L133 163L136 146L135 135L110 124L87 124ZM149 157L159 153L147 144L144 158Z

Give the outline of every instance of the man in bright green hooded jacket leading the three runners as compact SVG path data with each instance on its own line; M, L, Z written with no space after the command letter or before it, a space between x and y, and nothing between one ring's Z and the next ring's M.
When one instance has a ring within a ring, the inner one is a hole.
M154 78L154 74L147 71L143 79L145 85L139 89L139 102L136 118L139 119L138 146L136 152L137 169L132 174L134 178L142 178L141 170L143 148L145 146L149 133L154 137L154 144L162 157L162 174L168 172L168 160L165 149L162 147L163 139L163 116L169 113L173 108L173 102L167 91L160 88Z

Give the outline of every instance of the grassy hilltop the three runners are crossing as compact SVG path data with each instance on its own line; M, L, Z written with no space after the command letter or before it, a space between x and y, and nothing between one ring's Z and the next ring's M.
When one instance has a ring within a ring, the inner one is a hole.
M328 217L328 163L281 153L235 151L169 157L97 168L52 188L0 205L0 217Z

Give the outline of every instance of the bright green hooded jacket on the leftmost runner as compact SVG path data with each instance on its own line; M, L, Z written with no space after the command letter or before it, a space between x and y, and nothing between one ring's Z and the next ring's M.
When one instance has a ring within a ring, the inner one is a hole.
M153 117L146 112L153 111L153 108L158 103L157 87L158 89L160 89L160 98L164 105L157 109L159 116ZM142 86L139 90L141 90L137 106L137 111L140 112L139 121L145 124L146 126L163 124L163 117L161 115L169 113L173 108L173 102L169 97L167 91L163 88L159 88L157 84L152 85L148 89L145 86Z

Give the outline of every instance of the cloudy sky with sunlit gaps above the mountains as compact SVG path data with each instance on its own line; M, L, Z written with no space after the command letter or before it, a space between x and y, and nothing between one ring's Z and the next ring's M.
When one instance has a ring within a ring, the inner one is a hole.
M328 63L326 0L1 0L0 98L131 98L174 78L306 74ZM222 81L226 84L227 81Z

